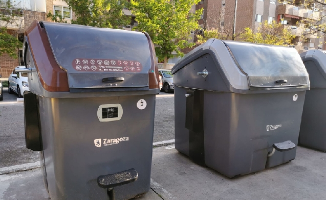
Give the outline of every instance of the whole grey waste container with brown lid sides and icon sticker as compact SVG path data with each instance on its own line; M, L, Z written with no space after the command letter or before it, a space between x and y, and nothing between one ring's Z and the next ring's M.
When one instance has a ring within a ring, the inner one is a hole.
M26 146L51 199L129 199L150 189L159 74L146 33L33 22L24 61Z

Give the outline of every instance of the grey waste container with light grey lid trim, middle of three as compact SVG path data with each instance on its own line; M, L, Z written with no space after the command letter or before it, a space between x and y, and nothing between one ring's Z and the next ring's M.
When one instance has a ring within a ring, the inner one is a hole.
M179 152L228 177L295 158L310 87L295 49L209 39L172 73Z

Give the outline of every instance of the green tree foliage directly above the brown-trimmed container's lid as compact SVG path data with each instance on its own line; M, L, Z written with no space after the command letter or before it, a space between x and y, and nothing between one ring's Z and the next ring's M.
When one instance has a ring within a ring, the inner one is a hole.
M64 1L75 13L76 20L72 19L72 24L118 29L131 23L131 17L124 15L122 11L129 7L126 0Z

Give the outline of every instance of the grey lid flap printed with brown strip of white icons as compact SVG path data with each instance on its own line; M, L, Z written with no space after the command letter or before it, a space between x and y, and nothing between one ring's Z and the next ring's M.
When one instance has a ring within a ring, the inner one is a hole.
M57 64L68 74L70 89L128 87L148 90L152 62L150 44L144 33L41 23ZM123 77L124 81L102 82L102 78L107 77Z

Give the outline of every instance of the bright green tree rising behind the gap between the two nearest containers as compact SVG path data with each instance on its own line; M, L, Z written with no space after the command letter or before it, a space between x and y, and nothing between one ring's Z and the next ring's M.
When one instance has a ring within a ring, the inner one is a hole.
M192 47L190 32L199 28L203 9L191 12L191 7L200 0L132 0L133 14L138 26L134 30L149 34L159 61L167 60L177 53L183 56L181 49Z

